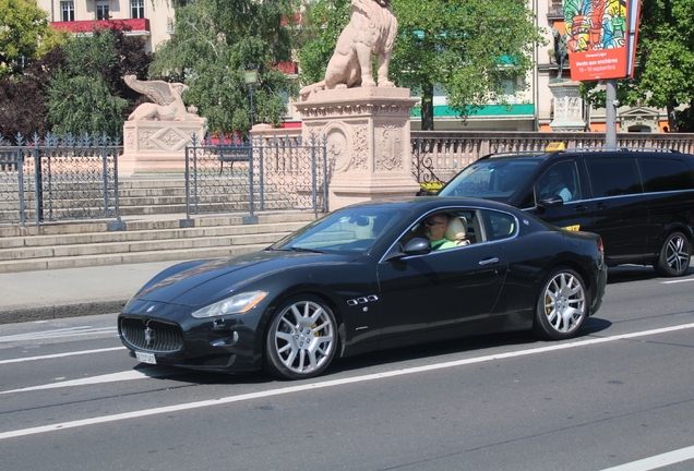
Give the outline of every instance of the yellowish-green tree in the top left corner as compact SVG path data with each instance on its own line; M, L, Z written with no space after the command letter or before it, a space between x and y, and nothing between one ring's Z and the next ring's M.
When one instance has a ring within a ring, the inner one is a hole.
M48 13L36 1L0 0L0 80L21 74L26 62L62 40L64 35L50 27Z

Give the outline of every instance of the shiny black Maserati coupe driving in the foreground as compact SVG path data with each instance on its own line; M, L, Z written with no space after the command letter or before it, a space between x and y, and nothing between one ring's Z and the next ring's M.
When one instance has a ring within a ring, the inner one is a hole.
M454 243L435 250L433 227ZM570 338L606 283L599 235L494 202L411 197L170 267L124 306L118 331L141 362L299 379L392 347L513 330Z

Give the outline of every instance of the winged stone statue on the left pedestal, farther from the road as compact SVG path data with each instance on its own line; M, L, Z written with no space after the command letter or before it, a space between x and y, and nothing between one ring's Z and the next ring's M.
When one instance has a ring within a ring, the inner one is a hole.
M188 112L181 95L188 90L182 83L164 81L139 81L135 75L125 75L123 81L135 92L146 95L154 102L142 104L130 114L128 121L204 121Z

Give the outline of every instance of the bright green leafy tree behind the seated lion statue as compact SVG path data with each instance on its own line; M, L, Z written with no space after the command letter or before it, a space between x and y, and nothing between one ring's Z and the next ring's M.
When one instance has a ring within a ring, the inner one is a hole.
M422 129L433 130L434 86L463 121L524 87L537 44L545 44L522 0L393 0L398 37L390 77L421 97ZM323 27L301 50L304 83L322 80L337 36L349 22L349 2L323 0L311 11ZM321 21L322 20L322 21Z

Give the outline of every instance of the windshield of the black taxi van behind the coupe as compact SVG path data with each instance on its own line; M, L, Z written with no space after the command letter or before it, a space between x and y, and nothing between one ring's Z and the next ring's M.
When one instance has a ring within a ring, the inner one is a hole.
M458 173L441 196L469 196L507 202L539 165L538 160L482 160Z

